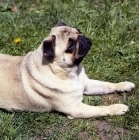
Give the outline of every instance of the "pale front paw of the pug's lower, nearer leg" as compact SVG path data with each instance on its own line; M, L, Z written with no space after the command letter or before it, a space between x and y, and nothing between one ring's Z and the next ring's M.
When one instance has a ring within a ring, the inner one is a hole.
M124 104L114 104L109 106L110 115L123 115L129 110L129 107Z

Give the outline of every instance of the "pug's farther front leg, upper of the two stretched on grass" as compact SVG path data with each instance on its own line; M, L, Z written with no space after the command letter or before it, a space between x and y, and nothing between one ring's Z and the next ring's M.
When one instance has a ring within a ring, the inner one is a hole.
M108 94L113 92L131 91L135 84L131 82L110 83L98 80L87 79L84 94Z

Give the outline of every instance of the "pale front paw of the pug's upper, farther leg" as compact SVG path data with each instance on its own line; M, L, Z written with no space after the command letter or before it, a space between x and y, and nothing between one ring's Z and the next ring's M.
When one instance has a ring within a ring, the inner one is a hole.
M116 88L119 92L129 92L135 88L135 84L131 82L120 82L118 83Z

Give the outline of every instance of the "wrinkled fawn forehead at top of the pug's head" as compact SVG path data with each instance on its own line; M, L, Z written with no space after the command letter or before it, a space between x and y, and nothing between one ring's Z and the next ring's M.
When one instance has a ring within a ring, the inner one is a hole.
M76 28L72 28L68 26L60 26L60 27L54 27L51 30L51 34L60 35L61 37L64 36L77 37L79 34L81 34L81 32Z

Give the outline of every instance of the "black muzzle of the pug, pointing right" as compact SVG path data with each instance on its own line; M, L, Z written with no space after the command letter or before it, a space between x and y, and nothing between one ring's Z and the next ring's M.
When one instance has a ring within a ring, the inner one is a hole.
M80 35L78 37L78 41L79 41L79 47L76 52L75 60L73 61L75 65L79 65L82 62L83 58L89 52L92 45L91 40L85 36Z

